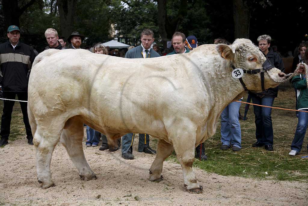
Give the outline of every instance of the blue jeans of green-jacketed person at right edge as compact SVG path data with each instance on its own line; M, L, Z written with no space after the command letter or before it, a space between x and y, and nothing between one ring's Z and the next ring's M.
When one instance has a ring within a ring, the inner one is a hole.
M302 111L308 111L308 109L303 109ZM298 112L298 124L295 131L294 139L292 141L291 149L297 151L298 153L302 149L304 137L307 130L308 124L308 113L307 112ZM307 145L308 149L308 145Z

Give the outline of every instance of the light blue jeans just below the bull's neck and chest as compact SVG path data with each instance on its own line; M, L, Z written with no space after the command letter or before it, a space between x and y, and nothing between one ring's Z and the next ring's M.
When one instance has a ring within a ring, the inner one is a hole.
M241 101L241 100L239 100ZM231 102L221 113L221 142L222 145L231 145L241 148L241 125L238 120L241 103Z

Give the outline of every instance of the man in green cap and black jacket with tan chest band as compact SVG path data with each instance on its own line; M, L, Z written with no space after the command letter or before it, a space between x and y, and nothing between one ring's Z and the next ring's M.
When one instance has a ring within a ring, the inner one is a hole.
M19 41L20 30L17 26L11 25L7 29L6 43L0 44L1 62L1 85L4 99L15 99L27 101L28 99L28 78L30 69L35 58L33 48ZM10 124L15 101L3 101L3 114L1 117L1 140L0 146L8 144L10 135ZM33 137L27 114L27 103L19 102L23 115L23 122L26 126L28 144L33 145Z

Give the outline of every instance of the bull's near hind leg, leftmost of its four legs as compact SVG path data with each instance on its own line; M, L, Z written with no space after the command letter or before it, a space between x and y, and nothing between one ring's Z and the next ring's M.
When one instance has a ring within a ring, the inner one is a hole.
M51 180L50 162L52 152L59 141L62 128L59 123L51 123L46 127L38 125L34 133L33 144L35 146L36 172L38 182L43 189L55 186Z

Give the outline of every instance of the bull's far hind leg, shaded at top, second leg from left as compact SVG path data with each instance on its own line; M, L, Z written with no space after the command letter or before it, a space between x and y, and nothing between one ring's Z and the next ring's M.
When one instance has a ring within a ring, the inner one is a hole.
M79 176L84 180L96 179L96 175L91 170L84 157L82 148L83 122L78 117L67 120L61 135L61 143L67 150L74 166L79 171Z

